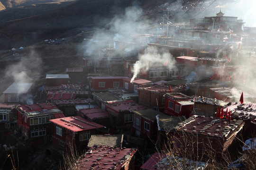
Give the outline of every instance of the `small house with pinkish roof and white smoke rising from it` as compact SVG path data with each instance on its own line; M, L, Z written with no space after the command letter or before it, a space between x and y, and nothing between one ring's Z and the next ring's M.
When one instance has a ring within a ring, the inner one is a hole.
M124 88L137 92L137 88L138 87L148 87L153 85L152 81L149 80L145 80L145 79L141 79L141 78L135 78L132 82L131 82L131 78L124 78Z

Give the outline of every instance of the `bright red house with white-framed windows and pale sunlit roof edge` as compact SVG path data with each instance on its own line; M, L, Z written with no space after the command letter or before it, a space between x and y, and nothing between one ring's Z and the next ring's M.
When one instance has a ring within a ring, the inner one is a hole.
M185 116L189 118L193 110L194 102L191 97L183 93L165 94L165 113L173 116Z

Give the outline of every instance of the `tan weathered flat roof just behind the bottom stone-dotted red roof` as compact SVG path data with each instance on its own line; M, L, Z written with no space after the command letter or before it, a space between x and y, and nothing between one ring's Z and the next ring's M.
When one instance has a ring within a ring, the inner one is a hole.
M92 147L95 144L97 145L105 145L112 147L121 147L123 143L123 135L91 135L91 138L87 144L87 146Z

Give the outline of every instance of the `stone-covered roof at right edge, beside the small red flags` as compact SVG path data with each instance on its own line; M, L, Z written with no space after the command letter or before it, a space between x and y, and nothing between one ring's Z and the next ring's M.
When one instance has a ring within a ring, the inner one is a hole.
M232 102L227 108L231 110L231 117L256 119L256 103L245 102L241 104L240 102Z

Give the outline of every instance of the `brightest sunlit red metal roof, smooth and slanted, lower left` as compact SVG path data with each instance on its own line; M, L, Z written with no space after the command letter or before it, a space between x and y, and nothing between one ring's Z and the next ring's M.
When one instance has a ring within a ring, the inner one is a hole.
M51 119L50 121L61 127L67 128L73 132L103 127L98 123L88 121L86 119L81 118L80 116Z

